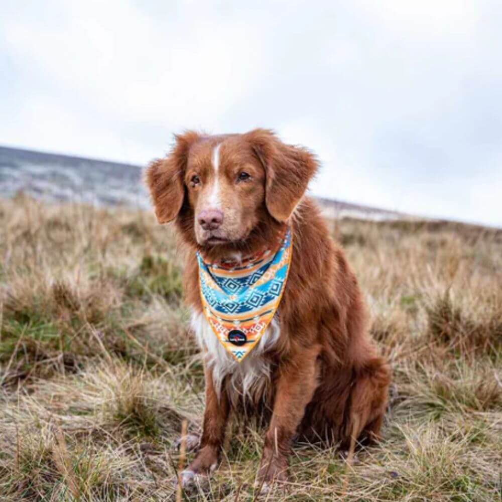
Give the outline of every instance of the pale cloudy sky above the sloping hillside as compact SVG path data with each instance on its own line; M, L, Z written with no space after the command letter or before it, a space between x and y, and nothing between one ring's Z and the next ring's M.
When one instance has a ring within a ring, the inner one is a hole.
M145 165L274 129L312 193L502 226L502 3L2 0L0 144Z

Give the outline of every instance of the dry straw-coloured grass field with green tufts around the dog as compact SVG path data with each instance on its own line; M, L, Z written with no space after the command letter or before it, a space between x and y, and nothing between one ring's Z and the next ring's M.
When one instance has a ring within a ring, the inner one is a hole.
M500 500L502 231L330 222L394 382L348 469L297 445L268 500ZM203 410L183 252L147 212L0 200L0 500L169 500ZM254 500L263 431L236 423L196 500ZM191 453L190 455L193 455ZM347 493L344 483L348 482Z

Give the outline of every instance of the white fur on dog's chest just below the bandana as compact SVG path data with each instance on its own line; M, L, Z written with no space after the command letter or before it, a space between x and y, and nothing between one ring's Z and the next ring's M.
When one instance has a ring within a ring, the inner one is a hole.
M237 362L221 345L209 326L203 313L192 313L192 329L197 342L205 352L206 364L212 368L213 382L218 396L225 376L229 375L231 390L244 397L254 394L257 388L270 379L270 363L263 356L272 348L281 333L277 316L272 319L267 330L253 350L241 362Z

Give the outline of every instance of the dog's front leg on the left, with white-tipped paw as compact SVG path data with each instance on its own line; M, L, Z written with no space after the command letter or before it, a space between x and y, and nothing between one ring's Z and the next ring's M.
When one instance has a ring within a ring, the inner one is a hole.
M216 394L211 368L204 370L206 382L206 407L202 425L199 451L193 462L181 473L182 483L189 483L198 474L212 472L218 464L218 457L225 439L229 404L226 392L220 398Z

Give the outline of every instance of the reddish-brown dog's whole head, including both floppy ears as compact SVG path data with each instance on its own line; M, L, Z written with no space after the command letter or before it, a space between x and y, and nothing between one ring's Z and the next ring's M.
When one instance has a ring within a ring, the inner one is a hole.
M146 182L160 223L176 219L200 247L238 247L290 218L316 168L310 152L268 130L187 132L165 159L150 164Z

